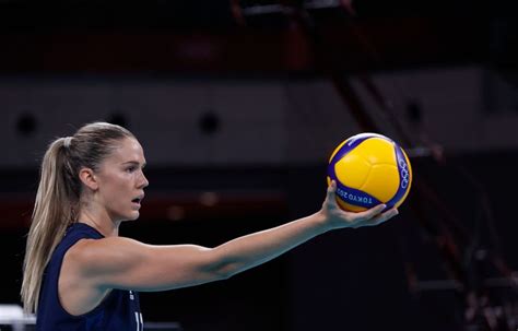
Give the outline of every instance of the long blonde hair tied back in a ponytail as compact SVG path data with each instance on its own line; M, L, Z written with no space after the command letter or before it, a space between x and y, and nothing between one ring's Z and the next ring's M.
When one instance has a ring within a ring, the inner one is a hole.
M73 137L55 140L47 149L23 261L21 296L26 312L37 311L45 268L67 227L78 221L82 192L79 170L98 170L123 138L134 137L122 127L93 122Z

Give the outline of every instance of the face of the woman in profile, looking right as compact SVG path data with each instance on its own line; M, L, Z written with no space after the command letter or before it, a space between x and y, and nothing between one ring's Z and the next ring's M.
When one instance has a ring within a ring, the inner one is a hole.
M149 185L143 174L144 152L133 138L116 143L116 149L95 173L98 190L95 200L106 209L111 221L137 220L144 188Z

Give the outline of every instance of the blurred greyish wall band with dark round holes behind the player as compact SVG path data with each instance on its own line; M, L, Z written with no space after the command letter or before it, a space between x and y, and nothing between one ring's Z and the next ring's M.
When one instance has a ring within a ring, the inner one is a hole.
M484 108L498 105L484 99L487 76L482 68L466 67L372 78L414 140L427 135L454 151L518 147L518 113ZM398 140L365 86L357 78L350 79L377 125ZM491 95L498 95L494 93L497 85L491 86ZM420 123L409 120L410 102L421 107ZM200 129L200 117L208 111L220 118L213 134ZM341 140L361 131L325 79L3 78L0 113L0 147L5 151L1 167L35 166L55 137L114 114L127 118L154 165L326 162ZM23 114L36 120L37 130L32 134L16 129Z

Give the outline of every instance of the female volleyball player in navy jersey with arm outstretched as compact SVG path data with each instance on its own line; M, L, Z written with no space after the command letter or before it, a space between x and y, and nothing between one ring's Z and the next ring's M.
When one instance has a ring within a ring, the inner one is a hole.
M334 182L320 211L215 248L152 246L118 236L139 217L149 185L144 153L128 130L95 122L48 147L27 238L22 284L36 330L143 330L140 291L227 279L325 232L380 224L396 209L337 206Z

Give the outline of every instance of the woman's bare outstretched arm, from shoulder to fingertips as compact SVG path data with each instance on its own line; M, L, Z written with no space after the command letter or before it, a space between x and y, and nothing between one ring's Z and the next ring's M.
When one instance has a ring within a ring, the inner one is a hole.
M215 248L195 245L152 246L113 237L83 240L70 259L81 280L98 288L165 291L227 279L279 257L328 230L380 224L398 214L378 205L361 213L342 211L327 192L320 211L307 217L229 240ZM74 261L74 262L72 262Z

